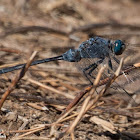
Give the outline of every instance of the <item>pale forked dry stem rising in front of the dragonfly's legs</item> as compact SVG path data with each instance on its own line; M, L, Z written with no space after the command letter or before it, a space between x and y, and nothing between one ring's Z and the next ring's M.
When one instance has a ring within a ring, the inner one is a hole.
M121 59L120 61L120 65L118 67L118 69L116 70L114 76L109 80L109 82L106 84L106 86L100 91L100 93L95 96L95 99L92 99L93 98L93 93L96 89L96 87L98 86L98 83L100 81L100 78L101 78L101 74L103 72L103 68L99 71L98 75L97 75L97 78L94 82L94 86L93 86L93 89L90 90L89 92L89 95L88 97L85 99L82 107L81 107L81 110L79 112L79 115L77 116L77 118L73 121L73 123L68 127L68 129L64 132L64 133L61 133L59 135L59 139L60 138L63 138L66 134L71 134L74 132L74 128L76 127L76 125L78 124L78 122L82 119L82 116L93 106L97 103L97 101L103 96L103 94L107 91L107 89L110 87L110 85L115 81L115 79L119 76L120 74L120 71L121 71L121 68L122 68L122 65L123 65L123 59ZM96 106L95 106L96 107Z

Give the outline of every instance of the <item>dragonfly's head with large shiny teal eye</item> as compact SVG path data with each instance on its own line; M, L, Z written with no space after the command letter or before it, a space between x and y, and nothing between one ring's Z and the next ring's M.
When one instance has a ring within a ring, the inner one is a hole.
M121 55L125 50L125 44L121 40L116 40L114 43L114 53L115 55Z

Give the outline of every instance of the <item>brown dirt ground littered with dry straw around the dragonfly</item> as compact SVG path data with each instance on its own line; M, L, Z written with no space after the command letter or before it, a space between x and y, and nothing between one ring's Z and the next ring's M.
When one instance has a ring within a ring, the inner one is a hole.
M34 51L34 60L61 55L94 36L125 41L126 50L118 58L126 58L124 68L140 63L140 1L0 0L0 69L26 63ZM112 84L80 117L89 90L63 119L67 105L88 87L75 64L32 66L12 87L19 72L0 75L0 98L9 92L0 112L1 140L140 139L139 68L117 78L120 86Z

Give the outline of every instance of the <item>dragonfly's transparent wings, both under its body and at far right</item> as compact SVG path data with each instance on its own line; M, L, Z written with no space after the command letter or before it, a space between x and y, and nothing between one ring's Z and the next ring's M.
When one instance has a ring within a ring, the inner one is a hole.
M105 46L106 44L102 44L102 46ZM139 50L139 48L137 48ZM125 64L124 67L127 67L130 64L134 64L135 62L137 62L138 60L140 60L140 55L139 55L139 51L138 50L133 50L131 48L127 48L126 52L124 53L123 56L117 57L117 59L120 60L121 57L125 57ZM90 54L88 52L87 55L90 56ZM100 52L97 52L100 55ZM114 71L117 69L118 64L116 63L116 61L113 59L113 54L110 54L111 56L111 62L112 62L112 66L113 66L113 71L110 70L110 68L108 67L106 69L106 71L104 72L103 76L101 79L105 79L109 76L111 76ZM131 60L131 61L130 61ZM85 68L87 68L88 66L97 63L99 61L99 58L85 58L82 59L80 62L78 62L77 66L78 69L80 70L84 70ZM92 76L88 76L88 78L90 78L90 80L94 81L94 77L96 77L99 68L101 65L107 65L108 66L108 58L104 59L103 62L101 64L99 64L97 66L97 68L95 68L91 75ZM90 71L90 69L87 71L87 73ZM132 104L136 104L137 101L135 101L134 99L132 99L131 95L137 94L140 91L139 86L137 86L137 88L134 86L135 84L140 83L140 70L135 70L130 72L128 75L122 75L120 76L112 85L111 85L111 93L119 93L121 95L122 99L125 99L128 101L131 101Z

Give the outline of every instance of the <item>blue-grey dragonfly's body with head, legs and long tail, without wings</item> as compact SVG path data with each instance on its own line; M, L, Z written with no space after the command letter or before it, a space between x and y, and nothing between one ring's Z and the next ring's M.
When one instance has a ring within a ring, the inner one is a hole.
M113 58L114 61L119 64L119 60L116 58L116 56L121 55L124 50L125 43L121 40L111 41L109 39L101 37L93 37L81 43L77 49L69 49L62 55L56 57L33 61L31 63L31 66L56 60L81 62L87 59L96 59L97 61L87 63L85 67L82 67L83 74L90 82L90 84L93 84L93 82L91 81L91 78L94 78L94 76L92 76L92 72L98 67L98 65L102 64L104 60L107 60L108 67L112 70L113 65L111 59ZM0 74L18 70L23 68L24 66L25 63L12 67L6 67L0 69Z

